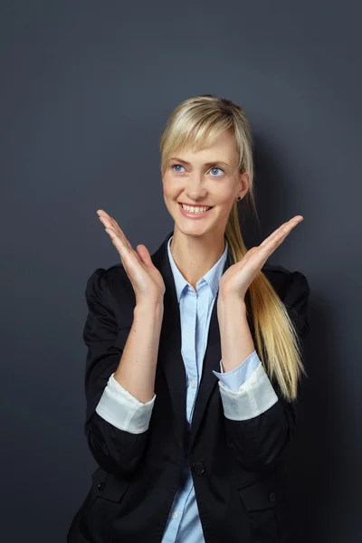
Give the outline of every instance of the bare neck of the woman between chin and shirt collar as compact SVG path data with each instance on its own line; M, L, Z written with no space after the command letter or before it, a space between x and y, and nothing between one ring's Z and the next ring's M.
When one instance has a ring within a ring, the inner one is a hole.
M172 257L178 270L196 290L197 281L221 258L225 249L224 233L208 237L186 235L174 230L170 243Z

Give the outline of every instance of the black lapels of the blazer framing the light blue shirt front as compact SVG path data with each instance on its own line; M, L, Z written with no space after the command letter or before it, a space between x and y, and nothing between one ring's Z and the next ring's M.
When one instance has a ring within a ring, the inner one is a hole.
M219 323L217 319L218 293L214 300L214 307L210 319L203 362L203 371L195 400L195 408L190 433L189 435L186 435L188 430L186 419L186 369L181 354L180 311L176 297L174 276L167 254L167 243L171 235L172 232L167 234L167 238L164 243L162 243L157 249L157 252L152 255L152 262L163 276L166 286L164 296L164 317L158 348L157 364L159 367L157 367L157 370L163 371L167 380L167 386L169 388L176 420L175 432L177 442L181 448L184 447L185 443L188 443L189 450L191 450L192 445L195 442L197 432L202 423L210 396L214 391L214 387L218 383L218 378L214 376L212 370L214 369L214 371L220 372L221 343ZM224 264L224 271L226 271L230 265L232 265L232 261L231 252L229 250ZM247 292L245 303L248 307L248 314L250 314L248 294L249 291ZM252 322L250 320L249 326L251 331L253 331Z

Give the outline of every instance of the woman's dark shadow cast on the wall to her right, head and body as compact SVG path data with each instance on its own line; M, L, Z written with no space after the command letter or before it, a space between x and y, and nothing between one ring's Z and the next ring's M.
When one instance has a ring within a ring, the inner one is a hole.
M262 243L289 220L291 217L283 217L283 210L294 206L288 165L281 160L280 149L273 148L272 142L261 136L254 136L254 146L256 203L263 232L255 221L248 223L251 215L243 216L241 208L240 222L249 248ZM248 224L252 224L252 231ZM273 263L273 255L269 262ZM308 377L303 377L300 383L297 425L286 458L286 481L291 519L298 534L293 543L327 543L327 539L330 541L337 535L332 533L331 539L326 538L333 524L331 516L338 522L337 515L344 506L338 448L341 451L345 448L347 436L341 433L347 429L340 416L343 412L340 383L333 374L339 366L338 360L333 359L338 356L338 331L332 329L328 300L319 300L311 278L307 279L310 333L304 341L303 360Z

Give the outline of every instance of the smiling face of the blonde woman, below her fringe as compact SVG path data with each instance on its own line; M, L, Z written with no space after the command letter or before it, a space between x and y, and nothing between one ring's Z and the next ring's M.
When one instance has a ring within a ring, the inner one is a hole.
M168 212L183 233L202 235L223 233L236 196L248 191L248 176L237 170L238 156L233 134L224 130L211 145L195 153L190 148L175 152L163 177L163 193ZM201 214L190 214L181 203L210 206ZM189 216L188 216L189 215Z

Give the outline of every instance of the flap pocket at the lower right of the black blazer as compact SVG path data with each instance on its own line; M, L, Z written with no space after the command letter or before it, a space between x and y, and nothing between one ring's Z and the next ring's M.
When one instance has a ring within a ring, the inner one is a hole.
M281 543L282 530L276 510L281 506L281 495L272 483L252 482L238 489L245 514L249 520L252 538L258 543Z

